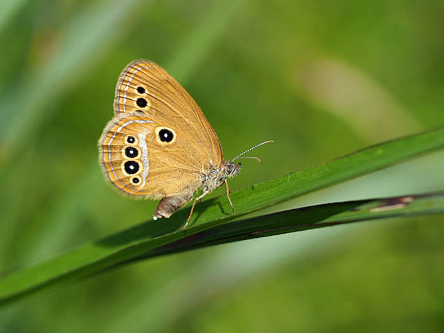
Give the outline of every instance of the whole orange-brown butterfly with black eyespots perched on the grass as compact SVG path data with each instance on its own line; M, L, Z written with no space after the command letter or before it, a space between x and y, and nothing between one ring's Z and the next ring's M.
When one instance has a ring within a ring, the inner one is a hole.
M123 194L161 198L153 219L169 218L194 199L196 202L241 171L227 161L219 139L194 99L159 65L149 60L130 62L121 72L114 96L114 118L99 139L99 163L105 178ZM261 162L259 160L259 162ZM261 162L262 163L262 162Z

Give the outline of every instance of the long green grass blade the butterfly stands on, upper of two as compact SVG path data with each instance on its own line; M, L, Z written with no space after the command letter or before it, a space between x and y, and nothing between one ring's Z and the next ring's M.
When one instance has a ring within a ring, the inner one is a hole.
M188 210L180 210L167 223L166 221L142 223L142 225L119 232L101 241L85 244L70 253L60 255L42 264L7 275L0 280L0 302L7 302L8 300L25 296L31 293L31 291L49 287L62 280L83 277L103 271L144 255L150 250L185 239L185 237L203 232L216 225L221 225L249 212L254 212L337 182L355 178L364 173L388 167L409 157L442 148L443 146L444 128L370 146L330 162L324 162L309 169L290 173L287 176L268 180L267 182L233 192L232 200L237 207L237 214L234 215L230 214L230 207L225 202L226 198L218 197L206 200L198 207L191 227L186 230L176 231L184 223L188 214ZM436 203L437 207L441 203L442 200L438 200ZM407 206L411 207L411 204ZM427 210L427 207L427 205L423 206L422 214L435 212L430 209ZM350 210L350 207L347 207L347 209ZM273 219L271 222L266 221L274 223L273 221L275 220ZM264 232L264 225L262 222L259 222L259 220L255 220L255 223L258 223L256 225L256 232L259 233L255 234L257 237L260 237L260 232ZM254 225L252 226L254 227ZM224 228L227 229L234 227L237 228L237 224L230 223L224 225ZM270 228L273 228L273 225L270 225ZM277 233L283 232L288 231L280 230ZM250 238L252 237L250 235ZM214 239L209 238L206 240L209 242L209 245L216 244ZM199 243L203 244L206 240L200 238ZM234 240L236 239L232 237L228 241Z

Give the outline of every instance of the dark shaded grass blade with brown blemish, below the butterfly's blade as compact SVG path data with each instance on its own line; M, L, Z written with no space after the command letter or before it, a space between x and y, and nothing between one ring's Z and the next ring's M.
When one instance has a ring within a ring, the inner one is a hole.
M439 213L444 213L444 191L432 194L327 203L217 225L191 237L156 248L141 257L130 260L130 262L275 234L352 222Z

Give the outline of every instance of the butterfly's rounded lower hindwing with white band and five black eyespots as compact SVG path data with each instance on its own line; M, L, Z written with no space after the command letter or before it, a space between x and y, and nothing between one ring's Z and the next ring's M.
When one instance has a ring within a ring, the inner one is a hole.
M180 126L156 117L121 114L99 140L103 173L126 194L161 198L196 191L202 155ZM167 135L165 135L167 134Z

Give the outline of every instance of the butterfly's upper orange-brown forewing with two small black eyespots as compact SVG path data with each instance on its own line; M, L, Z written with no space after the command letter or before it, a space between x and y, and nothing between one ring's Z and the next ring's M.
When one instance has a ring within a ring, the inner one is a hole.
M176 126L189 139L189 148L199 151L201 164L221 164L221 144L202 110L167 71L149 60L130 62L116 86L114 115L139 112Z

